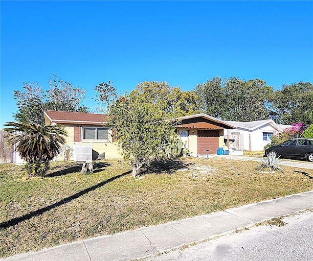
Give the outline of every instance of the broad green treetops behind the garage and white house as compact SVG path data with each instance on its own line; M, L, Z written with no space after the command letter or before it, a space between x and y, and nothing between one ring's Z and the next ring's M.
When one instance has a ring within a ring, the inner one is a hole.
M268 119L270 114L268 107L273 88L260 79L214 77L198 84L194 91L201 110L219 119L253 121Z

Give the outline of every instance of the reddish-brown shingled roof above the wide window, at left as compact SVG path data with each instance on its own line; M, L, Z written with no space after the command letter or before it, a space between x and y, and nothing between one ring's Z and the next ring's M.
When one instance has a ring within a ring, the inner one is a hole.
M45 123L48 125L52 123L101 125L107 122L105 122L104 114L45 111Z

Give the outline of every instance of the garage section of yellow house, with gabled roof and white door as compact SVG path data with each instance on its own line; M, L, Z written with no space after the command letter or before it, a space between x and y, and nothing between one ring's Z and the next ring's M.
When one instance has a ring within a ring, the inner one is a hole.
M211 117L205 113L177 118L176 126L180 139L190 150L190 155L216 154L219 147L224 147L224 131L235 129L231 123Z

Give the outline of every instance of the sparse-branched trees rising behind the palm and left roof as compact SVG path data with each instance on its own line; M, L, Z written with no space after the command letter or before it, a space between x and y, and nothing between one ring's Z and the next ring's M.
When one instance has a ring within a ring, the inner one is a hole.
M14 91L18 112L13 116L19 122L45 124L44 111L87 112L82 103L86 91L58 80L54 74L49 80L49 89L44 91L38 83L23 83L23 89Z

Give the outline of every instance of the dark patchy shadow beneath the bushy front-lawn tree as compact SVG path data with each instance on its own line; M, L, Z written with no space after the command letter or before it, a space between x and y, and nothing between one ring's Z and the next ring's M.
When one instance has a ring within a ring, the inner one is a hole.
M188 166L194 166L194 163L185 163L181 159L169 159L166 161L160 161L160 162L153 162L150 164L150 166L145 167L140 171L139 175L143 174L150 174L150 173L156 173L156 174L173 174L176 171L180 169L188 168Z

